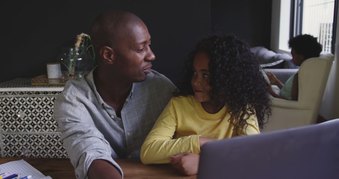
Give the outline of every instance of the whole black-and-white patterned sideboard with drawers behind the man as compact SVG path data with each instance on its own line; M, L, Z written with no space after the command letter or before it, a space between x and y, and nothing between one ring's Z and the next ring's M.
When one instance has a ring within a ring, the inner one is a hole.
M62 89L27 78L0 83L0 157L67 158L52 118Z

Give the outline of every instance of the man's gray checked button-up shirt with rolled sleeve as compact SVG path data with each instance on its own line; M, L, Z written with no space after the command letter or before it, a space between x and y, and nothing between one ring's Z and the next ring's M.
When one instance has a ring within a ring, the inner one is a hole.
M88 178L95 159L110 162L121 174L113 159L139 159L141 145L175 88L152 70L145 81L133 83L119 118L97 92L93 71L67 81L54 103L53 118L77 178Z

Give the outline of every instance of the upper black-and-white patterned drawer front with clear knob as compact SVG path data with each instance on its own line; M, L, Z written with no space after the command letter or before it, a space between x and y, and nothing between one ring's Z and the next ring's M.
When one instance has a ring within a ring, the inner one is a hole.
M55 96L0 97L1 132L56 132ZM18 117L19 112L25 116Z

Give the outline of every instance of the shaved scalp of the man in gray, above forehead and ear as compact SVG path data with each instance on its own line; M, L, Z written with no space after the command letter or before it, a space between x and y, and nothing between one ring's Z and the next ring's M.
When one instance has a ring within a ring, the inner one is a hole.
M98 54L102 46L119 45L123 35L140 23L143 22L138 16L126 11L111 10L99 15L91 26L91 41L95 53Z

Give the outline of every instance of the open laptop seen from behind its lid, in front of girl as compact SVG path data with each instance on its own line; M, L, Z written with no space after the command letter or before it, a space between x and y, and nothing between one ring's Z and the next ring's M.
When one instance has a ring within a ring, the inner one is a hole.
M206 143L198 179L339 179L339 119Z

